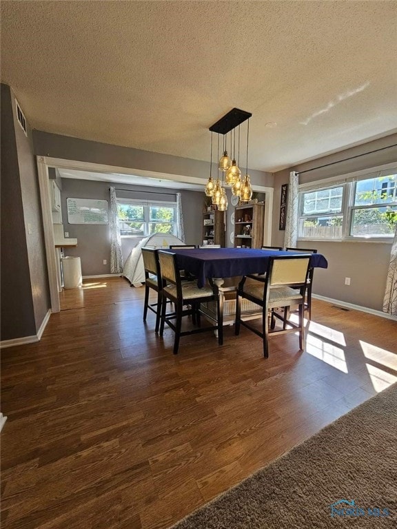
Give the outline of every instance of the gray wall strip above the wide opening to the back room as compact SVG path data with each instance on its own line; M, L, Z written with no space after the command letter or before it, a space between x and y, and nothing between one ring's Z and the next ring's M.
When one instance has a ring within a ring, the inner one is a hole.
M201 160L190 160L169 154L141 151L130 147L119 147L107 143L81 140L60 134L50 134L40 130L34 131L34 152L41 156L79 160L83 162L114 165L132 169L143 169L165 174L179 174L205 180L210 176L210 163ZM208 138L210 139L210 138ZM216 165L213 164L215 173ZM273 175L250 169L251 182L254 185L273 187Z

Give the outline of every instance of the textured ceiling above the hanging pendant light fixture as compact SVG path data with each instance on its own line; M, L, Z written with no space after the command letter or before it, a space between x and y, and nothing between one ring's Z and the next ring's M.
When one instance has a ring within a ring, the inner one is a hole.
M395 1L3 1L1 81L36 129L198 160L238 107L274 171L396 132L396 22Z

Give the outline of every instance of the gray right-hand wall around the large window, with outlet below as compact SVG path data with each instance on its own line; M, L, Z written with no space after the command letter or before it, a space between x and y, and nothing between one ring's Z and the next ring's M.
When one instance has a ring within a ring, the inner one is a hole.
M305 171L320 165L326 165L352 156L352 160L329 165L299 176L300 183L308 183L322 178L330 178L349 172L367 169L376 165L397 161L397 134L386 138L364 143L357 147L311 160L296 165L274 175L274 210L272 244L283 245L284 232L278 230L280 211L281 185L288 183L289 171ZM389 147L389 148L385 148ZM373 152L372 151L377 151ZM337 242L337 241L302 241L298 247L314 247L323 253L328 260L327 270L316 269L313 291L318 295L382 310L385 293L387 267L389 265L391 243L388 242ZM345 285L345 277L351 278L350 286Z

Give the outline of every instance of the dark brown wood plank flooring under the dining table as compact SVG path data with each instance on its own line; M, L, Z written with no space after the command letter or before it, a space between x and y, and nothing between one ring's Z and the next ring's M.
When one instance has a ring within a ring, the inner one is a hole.
M2 351L4 529L162 529L397 380L396 322L314 300L296 335L181 338L121 278Z

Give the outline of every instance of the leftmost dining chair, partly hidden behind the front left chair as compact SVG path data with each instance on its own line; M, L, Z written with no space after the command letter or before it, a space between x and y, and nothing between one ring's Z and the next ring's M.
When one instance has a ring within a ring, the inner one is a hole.
M143 321L146 321L147 309L156 314L156 333L159 331L163 286L161 279L158 250L142 248L143 268L145 269L145 300L143 302ZM150 289L157 293L157 302L149 303Z

